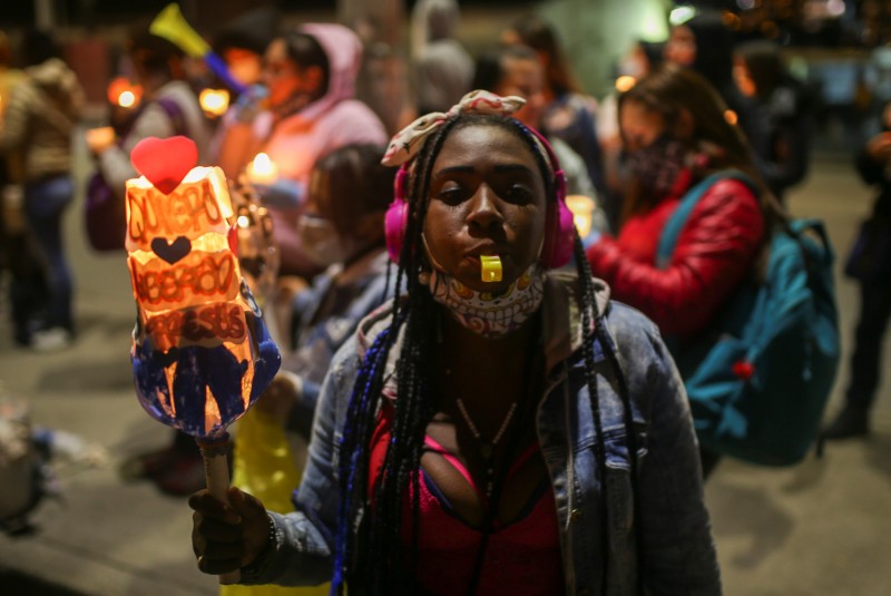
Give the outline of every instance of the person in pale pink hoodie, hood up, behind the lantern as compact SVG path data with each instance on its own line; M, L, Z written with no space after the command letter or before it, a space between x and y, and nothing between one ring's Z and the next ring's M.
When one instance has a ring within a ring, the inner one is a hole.
M388 141L380 118L354 97L361 57L359 37L340 25L307 23L276 37L264 57L265 97L241 110L223 140L218 162L229 177L258 153L275 164L277 178L252 182L273 217L282 275L309 279L323 268L296 228L316 158L351 143Z

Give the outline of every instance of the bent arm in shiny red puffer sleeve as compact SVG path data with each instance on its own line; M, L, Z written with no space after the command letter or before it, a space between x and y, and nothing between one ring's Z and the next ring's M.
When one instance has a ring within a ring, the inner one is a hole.
M747 275L762 243L764 217L742 182L721 180L691 214L666 268L630 257L613 238L588 251L596 277L613 296L653 319L663 334L699 331Z

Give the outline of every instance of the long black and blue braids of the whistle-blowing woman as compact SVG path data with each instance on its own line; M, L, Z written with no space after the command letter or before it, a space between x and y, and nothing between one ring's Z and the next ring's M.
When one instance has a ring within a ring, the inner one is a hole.
M437 309L429 289L419 281L427 265L421 250L421 233L428 208L433 164L448 138L458 129L493 126L506 129L528 145L545 180L546 195L555 201L554 165L542 152L536 135L513 118L480 114L460 114L446 121L424 140L414 158L408 185L410 205L405 241L402 245L395 287L404 283L405 294L393 302L390 325L374 340L359 370L347 407L341 442L340 510L335 537L333 586L344 594L346 586L370 594L417 592L415 569L420 507L419 475L424 433L433 416L428 380L431 378L434 338L431 333ZM590 276L581 242L576 235L577 263L582 314L586 381L597 436L601 422L597 403L594 331L598 310L595 284ZM396 370L399 399L393 406L393 421L385 456L375 478L370 478L372 434L382 404L382 389L390 352L401 338ZM606 456L598 444L600 472ZM601 481L605 481L605 475ZM371 487L371 489L369 488ZM412 515L412 547L402 543L404 507L409 500Z

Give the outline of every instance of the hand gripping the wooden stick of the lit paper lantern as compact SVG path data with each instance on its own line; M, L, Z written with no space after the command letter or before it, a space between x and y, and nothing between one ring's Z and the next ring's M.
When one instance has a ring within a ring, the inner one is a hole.
M270 516L263 504L236 487L229 487L229 505L205 490L189 497L192 549L198 569L219 575L251 565L267 547Z

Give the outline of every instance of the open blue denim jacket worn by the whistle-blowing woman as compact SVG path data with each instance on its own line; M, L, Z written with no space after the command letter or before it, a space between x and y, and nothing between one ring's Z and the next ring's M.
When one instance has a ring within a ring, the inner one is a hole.
M581 317L572 296L577 280L550 273L542 304L547 381L537 429L557 504L566 593L604 594L606 585L608 596L721 594L683 382L656 326L629 306L608 303L608 289L596 283L604 313L596 324L606 325L611 344L598 341L595 345L606 470L599 469L596 455ZM243 569L243 583L307 585L331 578L344 418L364 350L389 322L389 310L372 313L360 325L356 341L344 344L335 355L322 387L306 470L294 497L296 511L270 512L274 547L262 561ZM621 377L607 350L617 356ZM395 389L392 375L398 354L396 344L385 393ZM634 466L619 394L623 380L634 419Z

